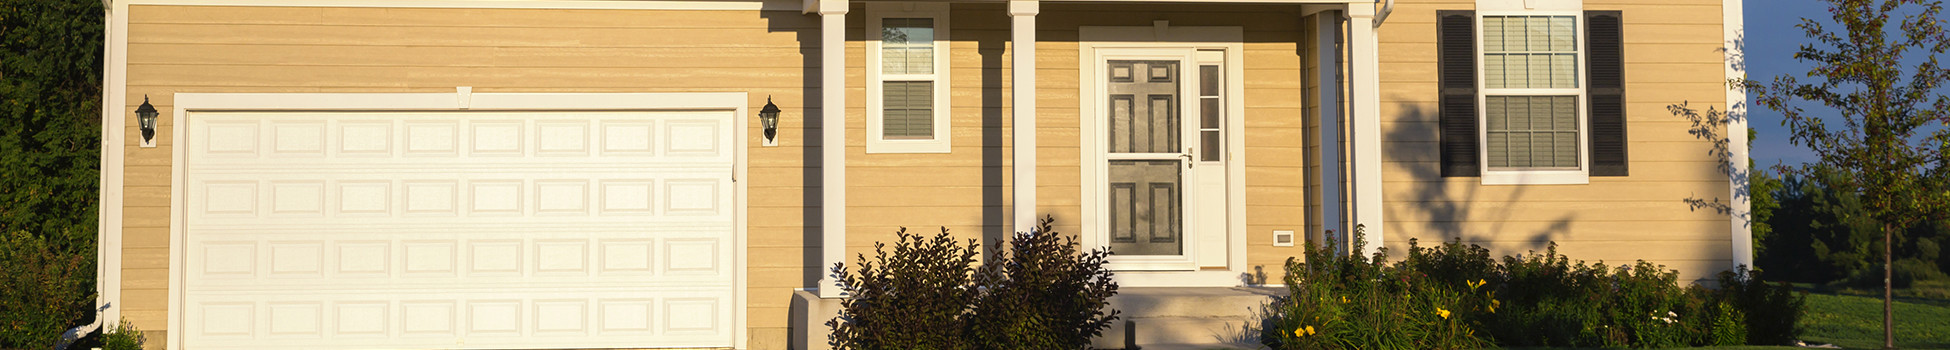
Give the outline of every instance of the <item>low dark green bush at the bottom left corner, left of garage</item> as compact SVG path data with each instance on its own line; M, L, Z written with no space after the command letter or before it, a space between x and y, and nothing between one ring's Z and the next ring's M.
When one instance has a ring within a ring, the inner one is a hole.
M47 348L92 321L92 254L20 231L0 233L0 348Z

